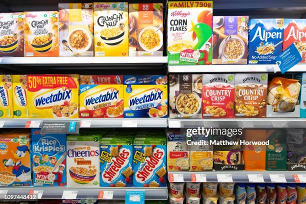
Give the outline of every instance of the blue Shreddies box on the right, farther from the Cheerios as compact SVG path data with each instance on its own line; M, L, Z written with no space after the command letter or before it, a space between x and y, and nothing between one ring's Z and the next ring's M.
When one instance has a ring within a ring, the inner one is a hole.
M133 186L166 187L166 162L164 136L134 137Z

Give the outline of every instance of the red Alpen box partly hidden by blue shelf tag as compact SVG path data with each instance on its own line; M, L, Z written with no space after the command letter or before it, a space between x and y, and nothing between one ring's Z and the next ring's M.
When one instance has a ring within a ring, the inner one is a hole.
M306 63L306 19L284 19L282 49L292 43L302 57L300 63Z

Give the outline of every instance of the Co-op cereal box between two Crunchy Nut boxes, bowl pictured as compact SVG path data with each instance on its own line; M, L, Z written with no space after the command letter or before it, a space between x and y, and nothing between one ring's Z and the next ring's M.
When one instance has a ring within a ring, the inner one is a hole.
M59 55L93 56L92 3L59 3Z

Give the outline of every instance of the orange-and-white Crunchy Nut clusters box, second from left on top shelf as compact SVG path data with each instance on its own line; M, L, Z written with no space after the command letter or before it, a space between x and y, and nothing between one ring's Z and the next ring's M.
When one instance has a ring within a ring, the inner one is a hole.
M24 12L24 56L58 56L58 12Z

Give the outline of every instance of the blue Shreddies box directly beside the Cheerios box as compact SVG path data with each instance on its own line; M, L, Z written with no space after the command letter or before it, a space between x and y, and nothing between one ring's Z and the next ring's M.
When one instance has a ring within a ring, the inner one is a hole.
M133 137L105 135L100 139L100 186L133 186Z

